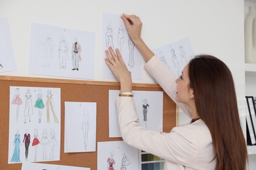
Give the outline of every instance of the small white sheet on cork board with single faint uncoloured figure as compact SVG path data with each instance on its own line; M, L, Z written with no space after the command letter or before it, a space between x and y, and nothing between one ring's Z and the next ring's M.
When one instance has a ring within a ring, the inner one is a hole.
M95 152L96 103L65 102L64 152Z

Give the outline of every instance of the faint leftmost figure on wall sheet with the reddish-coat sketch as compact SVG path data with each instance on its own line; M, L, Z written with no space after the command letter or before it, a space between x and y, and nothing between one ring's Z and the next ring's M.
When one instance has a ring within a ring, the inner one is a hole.
M54 43L51 39L51 35L47 35L45 42L41 42L43 45L43 65L42 67L51 67L51 59L53 58Z

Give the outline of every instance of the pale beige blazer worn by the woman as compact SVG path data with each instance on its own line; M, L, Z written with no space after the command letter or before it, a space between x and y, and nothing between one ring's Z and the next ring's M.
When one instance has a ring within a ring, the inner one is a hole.
M175 76L160 58L154 56L146 63L145 69L175 101ZM133 97L117 97L116 105L123 141L135 148L164 158L165 170L215 169L216 159L211 133L202 120L186 126L174 127L169 133L160 133L139 125ZM185 105L181 103L177 105L188 116L191 115Z

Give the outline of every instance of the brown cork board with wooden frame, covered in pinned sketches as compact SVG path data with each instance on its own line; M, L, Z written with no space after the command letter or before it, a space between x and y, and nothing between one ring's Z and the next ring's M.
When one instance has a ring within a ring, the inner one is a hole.
M64 80L52 78L28 78L0 76L0 169L21 169L22 163L8 164L9 141L9 91L10 86L60 88L61 91L61 142L60 161L43 161L57 165L91 167L97 169L97 151L64 153L64 102L96 102L96 142L121 141L121 137L108 137L108 90L119 90L118 82ZM158 84L133 84L133 90L163 91ZM177 124L175 103L163 93L163 131L169 132ZM96 148L97 150L97 148Z

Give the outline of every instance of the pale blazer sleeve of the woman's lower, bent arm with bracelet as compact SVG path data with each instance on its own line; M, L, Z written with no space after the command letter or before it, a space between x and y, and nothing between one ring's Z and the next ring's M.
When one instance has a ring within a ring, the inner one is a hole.
M133 97L117 97L117 114L121 136L127 144L165 160L186 165L198 155L198 141L188 127L175 127L160 133L141 127Z

